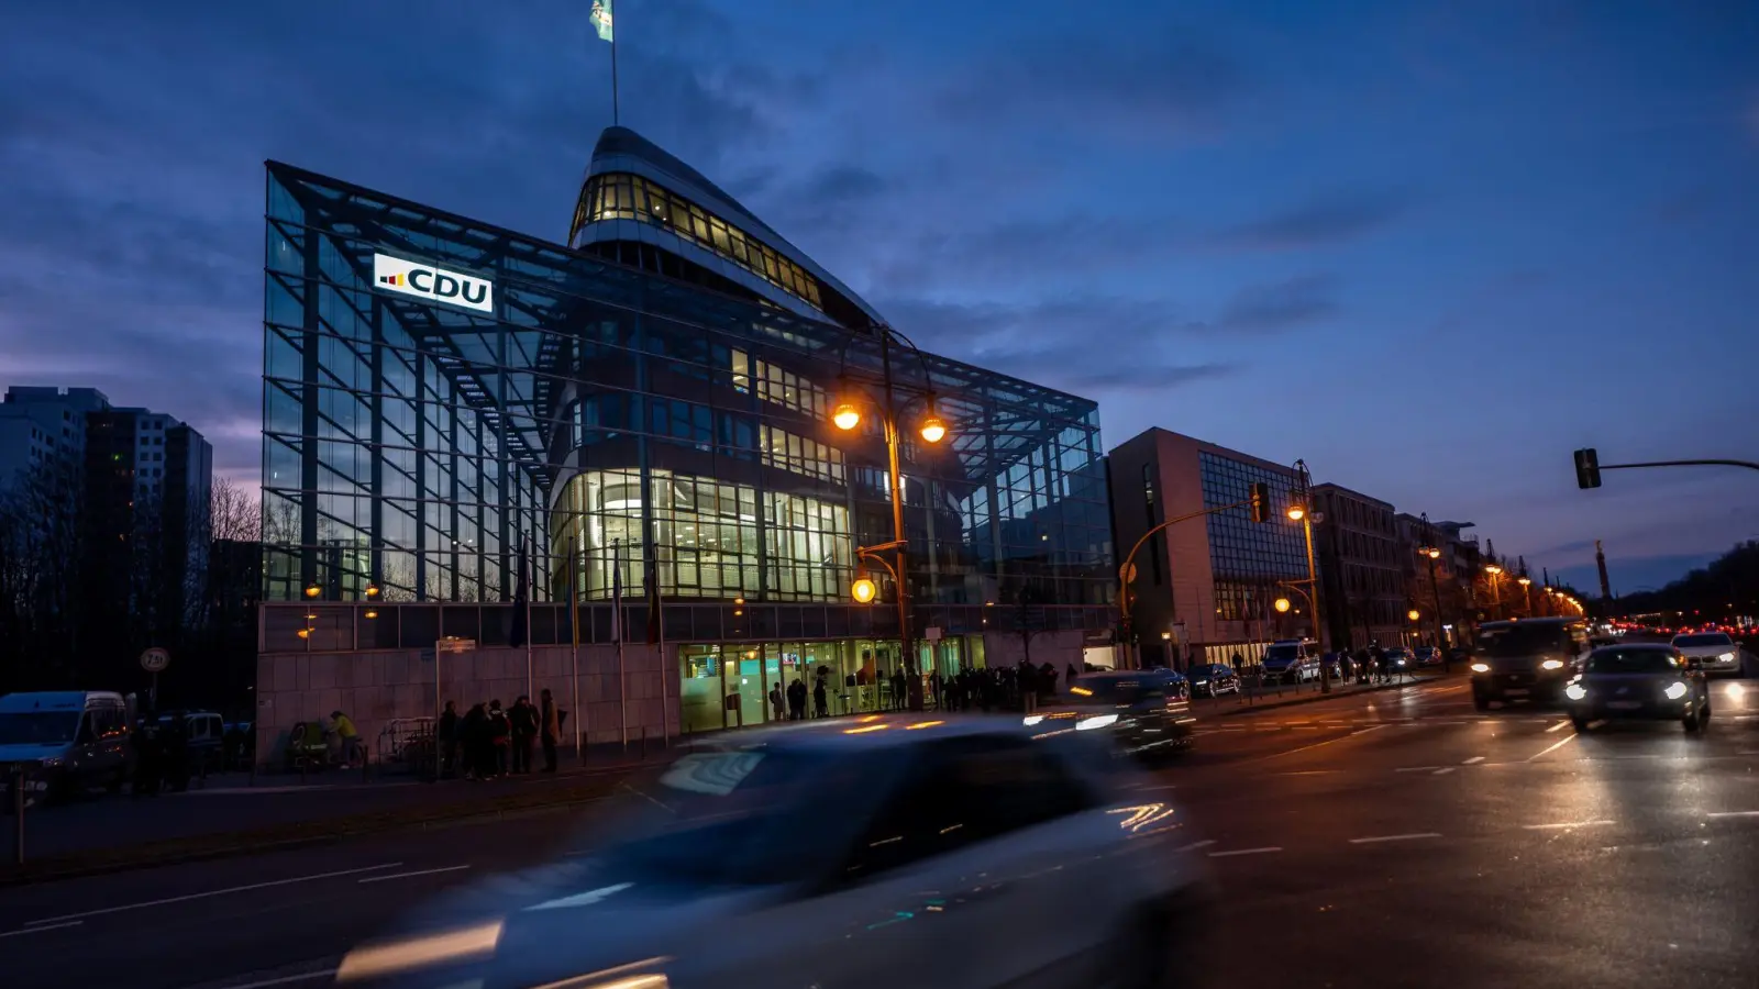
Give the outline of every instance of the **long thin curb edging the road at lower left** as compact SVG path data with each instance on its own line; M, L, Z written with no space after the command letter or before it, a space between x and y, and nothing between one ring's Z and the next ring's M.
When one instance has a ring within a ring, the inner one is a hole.
M0 868L0 887L100 876L157 866L227 859L232 855L285 852L369 834L463 827L491 820L512 820L554 813L603 801L623 778L633 774L633 771L616 776L600 773L566 788L549 788L510 797L501 794L500 797L503 799L500 801L478 799L442 808L380 811L243 832L171 838L121 848L106 848L104 852L69 852L63 855L26 861L23 866Z

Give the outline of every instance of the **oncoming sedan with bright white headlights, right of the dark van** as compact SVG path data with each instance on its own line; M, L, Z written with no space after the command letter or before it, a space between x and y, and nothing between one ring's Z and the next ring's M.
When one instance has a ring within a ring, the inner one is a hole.
M1601 718L1678 720L1696 732L1710 723L1710 688L1696 656L1668 644L1604 646L1564 685L1578 732Z

